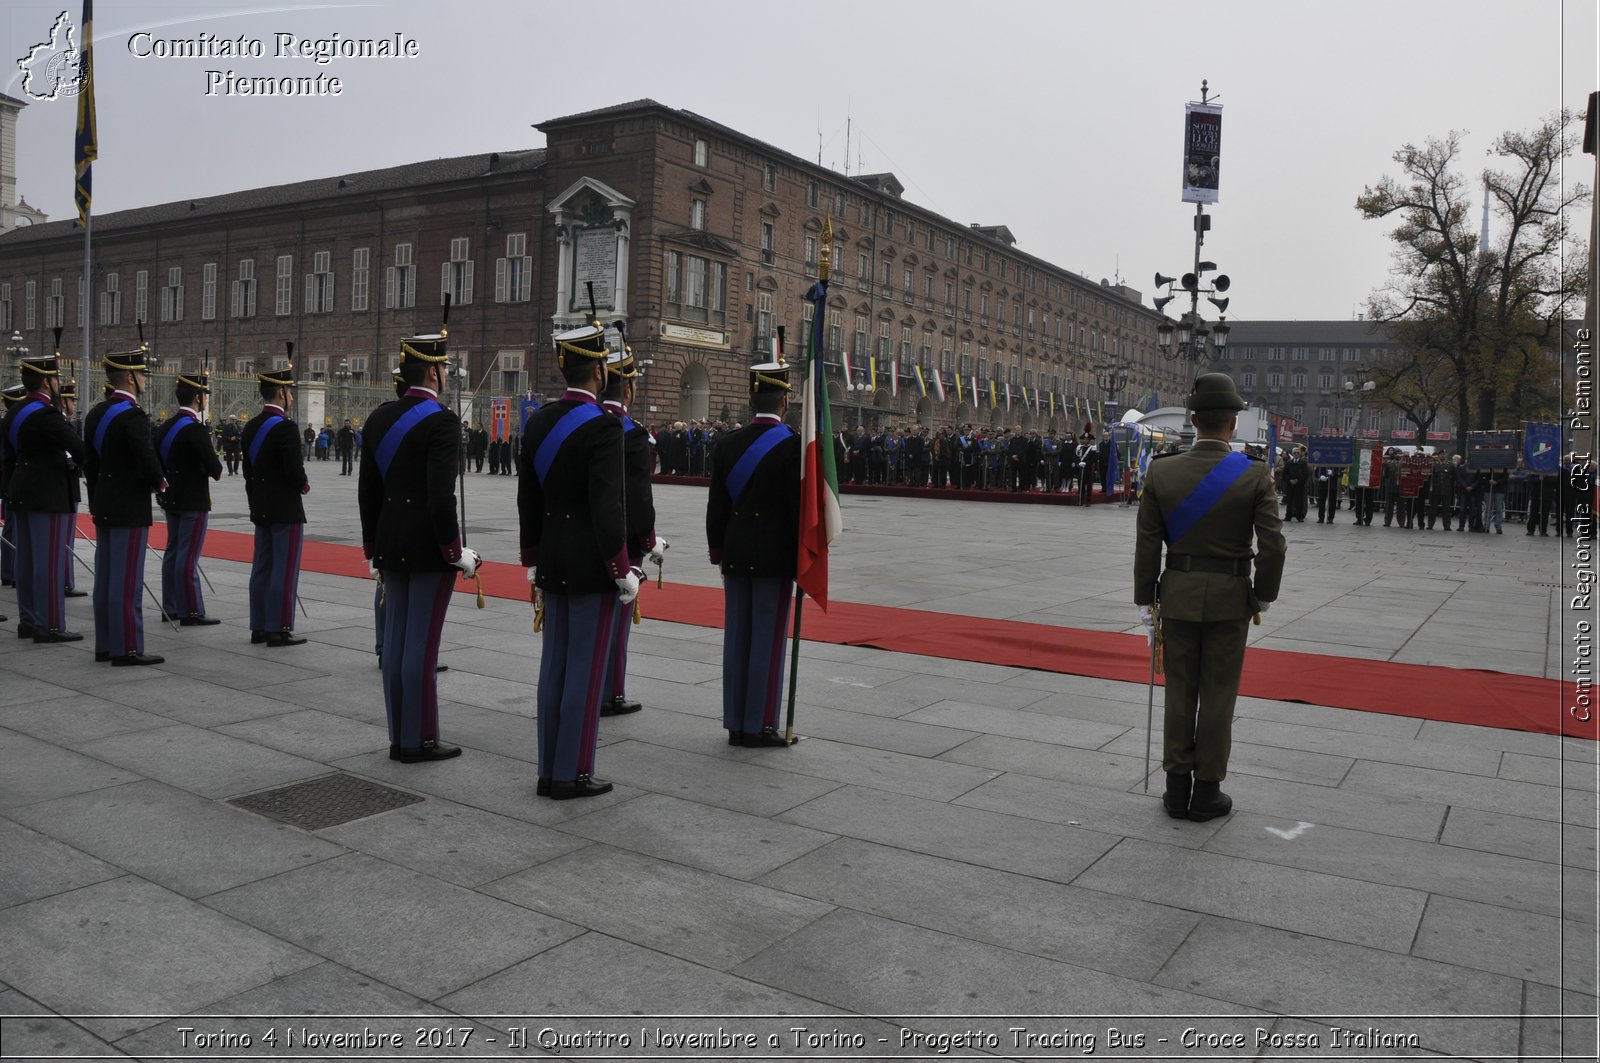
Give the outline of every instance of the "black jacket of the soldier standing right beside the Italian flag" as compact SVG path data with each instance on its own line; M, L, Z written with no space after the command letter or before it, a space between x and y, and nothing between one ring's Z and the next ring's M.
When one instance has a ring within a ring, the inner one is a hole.
M728 474L758 435L787 432L755 466L749 485L734 501ZM706 543L712 564L725 576L795 578L800 552L800 437L773 421L754 421L723 437L710 467L706 501Z

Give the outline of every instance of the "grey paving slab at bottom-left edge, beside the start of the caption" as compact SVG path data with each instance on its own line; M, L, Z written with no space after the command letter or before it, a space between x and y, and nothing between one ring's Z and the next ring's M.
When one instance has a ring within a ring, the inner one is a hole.
M315 962L133 876L0 911L0 978L109 1041Z

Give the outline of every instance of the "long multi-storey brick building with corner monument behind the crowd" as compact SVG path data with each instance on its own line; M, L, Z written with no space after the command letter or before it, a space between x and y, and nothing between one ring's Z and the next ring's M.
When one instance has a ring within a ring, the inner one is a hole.
M248 375L294 341L304 378L357 389L360 408L450 291L451 347L483 419L490 395L558 387L549 336L587 314L592 283L600 317L626 320L650 363L638 405L653 421L742 416L744 368L778 325L800 359L830 223L838 424L1067 427L1067 405L1106 399L1094 370L1112 362L1130 370L1125 403L1186 391L1187 367L1157 351L1160 315L1138 291L1026 255L1006 226L909 203L893 174L842 176L648 99L538 128L538 150L96 216L93 346L134 344L142 319L165 365ZM62 354L78 357L82 263L70 221L0 235L0 330L43 349L64 325Z

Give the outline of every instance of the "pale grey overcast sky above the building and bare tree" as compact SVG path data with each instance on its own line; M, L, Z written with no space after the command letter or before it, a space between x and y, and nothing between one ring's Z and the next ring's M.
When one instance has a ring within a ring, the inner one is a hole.
M82 0L6 0L0 91ZM906 199L1146 295L1186 272L1184 104L1222 104L1221 202L1205 256L1235 319L1350 319L1384 282L1382 223L1354 208L1406 141L1490 141L1597 83L1594 0L374 0L251 5L99 0L94 211L419 158L539 147L546 118L653 98L850 173L890 170ZM218 10L234 13L221 16ZM262 58L138 58L200 34ZM275 58L275 34L416 40L418 58ZM206 94L206 70L342 82L339 96ZM29 106L18 189L72 215L74 104ZM846 118L851 139L846 157ZM1587 181L1589 158L1568 166ZM1584 219L1586 221L1586 219ZM1475 223L1474 223L1475 224ZM1582 223L1579 223L1579 231Z

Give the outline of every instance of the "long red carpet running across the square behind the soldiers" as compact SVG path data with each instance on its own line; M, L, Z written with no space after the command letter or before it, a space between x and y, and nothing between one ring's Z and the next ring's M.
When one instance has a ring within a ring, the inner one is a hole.
M88 525L88 517L82 520ZM93 527L88 532L93 535ZM165 541L166 527L152 527L150 544L160 549ZM251 552L250 535L206 535L206 557L248 564ZM366 578L366 560L354 546L306 540L301 564L310 572ZM525 570L488 564L483 567L483 591L493 597L525 602ZM470 594L472 584L462 581L461 592ZM643 613L651 620L720 628L722 591L678 583L656 591L651 583L643 594ZM1131 684L1144 684L1150 676L1150 656L1142 636L979 616L960 618L960 636L952 636L950 624L949 613L851 602L834 602L824 613L814 602L808 602L800 634L814 642ZM1315 706L1330 706L1541 735L1600 738L1595 719L1579 722L1566 712L1576 688L1571 684L1566 684L1566 690L1562 687L1554 679L1536 676L1253 648L1245 656L1240 693L1307 704L1309 720L1315 719Z

